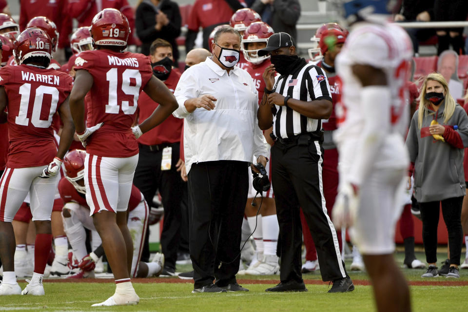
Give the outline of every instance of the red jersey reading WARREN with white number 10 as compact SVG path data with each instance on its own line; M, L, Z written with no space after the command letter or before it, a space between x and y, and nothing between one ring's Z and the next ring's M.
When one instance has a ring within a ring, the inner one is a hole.
M8 97L8 168L49 164L57 154L52 118L72 90L72 78L29 65L0 69Z

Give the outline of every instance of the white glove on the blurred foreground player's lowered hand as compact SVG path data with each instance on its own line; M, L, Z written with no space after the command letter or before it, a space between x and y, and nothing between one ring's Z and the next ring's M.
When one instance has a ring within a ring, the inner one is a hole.
M359 206L359 198L354 193L351 184L346 183L338 188L335 204L331 210L331 216L335 228L350 227L354 220Z

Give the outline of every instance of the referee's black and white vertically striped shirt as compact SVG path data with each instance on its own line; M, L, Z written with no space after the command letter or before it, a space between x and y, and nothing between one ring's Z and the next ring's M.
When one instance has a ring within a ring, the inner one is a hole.
M331 101L330 84L325 72L318 66L305 64L293 75L277 76L274 92L301 101L328 99ZM273 134L288 138L322 129L321 119L312 119L292 110L290 107L273 107Z

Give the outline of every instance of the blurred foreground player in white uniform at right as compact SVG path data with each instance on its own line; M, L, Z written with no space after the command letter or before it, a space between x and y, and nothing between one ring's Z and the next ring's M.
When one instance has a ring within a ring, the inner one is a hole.
M333 207L337 227L352 226L378 311L410 311L408 284L393 260L394 229L409 165L405 88L411 41L384 22L387 0L340 1L351 33L336 60L340 183Z

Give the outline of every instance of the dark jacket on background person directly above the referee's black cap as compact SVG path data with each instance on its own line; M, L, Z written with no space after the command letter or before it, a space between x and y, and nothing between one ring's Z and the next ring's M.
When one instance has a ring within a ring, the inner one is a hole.
M251 9L262 14L266 5L262 1L256 0ZM275 33L285 32L290 34L294 40L297 39L296 24L301 16L301 5L299 0L274 0L272 24Z

